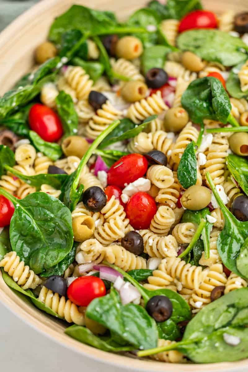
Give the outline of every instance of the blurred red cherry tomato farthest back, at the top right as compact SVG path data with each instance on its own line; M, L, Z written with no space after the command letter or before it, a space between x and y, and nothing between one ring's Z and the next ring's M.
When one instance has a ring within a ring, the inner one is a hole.
M217 17L215 13L207 10L194 10L188 13L180 22L179 32L194 28L216 28Z

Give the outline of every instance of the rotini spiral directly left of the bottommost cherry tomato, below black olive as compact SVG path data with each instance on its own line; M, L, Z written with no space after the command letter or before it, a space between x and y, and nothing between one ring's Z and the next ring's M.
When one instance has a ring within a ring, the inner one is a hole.
M77 305L73 304L69 299L66 300L64 296L59 297L58 293L53 293L50 289L42 287L39 301L43 302L68 323L84 325L84 315L78 310Z

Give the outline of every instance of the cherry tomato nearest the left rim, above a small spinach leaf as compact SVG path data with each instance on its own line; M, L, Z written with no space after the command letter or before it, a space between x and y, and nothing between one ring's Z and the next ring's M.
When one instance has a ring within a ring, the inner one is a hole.
M29 125L44 141L55 142L63 135L58 115L49 107L36 103L29 111Z

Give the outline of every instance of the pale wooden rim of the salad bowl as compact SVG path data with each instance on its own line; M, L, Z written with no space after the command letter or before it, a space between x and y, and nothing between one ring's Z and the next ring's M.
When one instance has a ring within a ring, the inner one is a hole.
M19 17L13 20L1 33L0 33L0 49L6 44L12 36L26 25L29 19L33 18L34 14L39 14L43 10L52 7L59 3L60 0L41 0L39 3L30 7L26 12L22 13ZM83 1L82 1L83 2ZM68 6L72 5L73 0L68 0ZM77 1L78 3L78 1ZM222 363L204 363L204 364L178 364L178 363L165 363L157 362L151 359L136 359L128 356L123 356L115 353L105 352L96 349L80 341L72 339L65 333L53 330L49 327L49 323L42 323L39 318L48 318L49 315L38 310L35 306L30 308L23 299L19 298L4 282L0 270L0 301L19 319L24 321L27 325L40 333L44 334L49 339L54 340L74 352L86 356L90 359L110 364L119 368L128 368L133 371L163 371L163 372L195 372L198 367L202 372L238 372L248 367L248 359L240 360L238 362L222 362ZM41 315L40 315L41 314ZM54 319L54 318L53 318Z

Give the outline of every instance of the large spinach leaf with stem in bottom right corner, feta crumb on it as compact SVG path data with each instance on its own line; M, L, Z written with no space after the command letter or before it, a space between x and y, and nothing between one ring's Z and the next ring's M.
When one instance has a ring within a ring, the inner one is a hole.
M204 307L187 325L183 340L167 347L138 352L147 356L178 350L196 363L232 362L248 357L248 288L237 289ZM238 337L237 345L225 337Z

